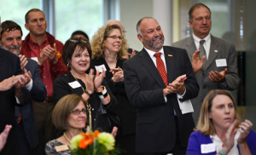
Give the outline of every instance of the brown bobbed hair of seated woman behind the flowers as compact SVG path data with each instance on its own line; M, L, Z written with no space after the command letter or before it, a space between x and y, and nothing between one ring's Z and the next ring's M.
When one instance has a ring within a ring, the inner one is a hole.
M83 101L84 106L86 102L79 95L65 95L55 105L52 112L52 123L56 129L69 129L67 117L73 109L79 105L79 102Z

